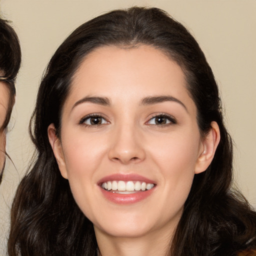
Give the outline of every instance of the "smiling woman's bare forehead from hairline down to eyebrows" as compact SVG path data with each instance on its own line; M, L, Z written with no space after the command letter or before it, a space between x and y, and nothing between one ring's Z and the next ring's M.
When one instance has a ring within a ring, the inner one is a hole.
M159 49L148 45L103 46L81 62L67 101L74 102L85 95L106 96L122 102L155 95L191 101L186 87L181 67Z

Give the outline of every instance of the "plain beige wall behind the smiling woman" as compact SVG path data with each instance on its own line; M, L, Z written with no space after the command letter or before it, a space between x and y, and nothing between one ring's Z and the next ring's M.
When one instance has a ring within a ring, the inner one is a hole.
M235 179L256 206L256 0L0 0L22 48L17 98L0 186L0 255L5 254L13 193L33 152L28 136L37 86L57 46L84 21L113 8L156 6L192 32L218 81L225 118L235 141Z

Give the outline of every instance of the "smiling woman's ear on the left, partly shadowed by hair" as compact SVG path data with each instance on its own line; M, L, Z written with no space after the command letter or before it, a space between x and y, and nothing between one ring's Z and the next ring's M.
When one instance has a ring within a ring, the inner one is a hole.
M65 158L62 150L62 145L60 139L56 136L56 129L53 123L48 126L48 139L53 151L53 154L56 158L58 168L63 178L67 179L67 171L66 171L66 164Z

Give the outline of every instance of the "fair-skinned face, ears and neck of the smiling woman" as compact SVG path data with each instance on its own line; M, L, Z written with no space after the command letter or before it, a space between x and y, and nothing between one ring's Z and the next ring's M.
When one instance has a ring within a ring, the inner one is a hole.
M212 122L201 138L184 74L160 50L105 46L74 75L61 139L54 124L48 136L101 255L148 256L166 254L193 176L210 164L219 130ZM128 180L153 187L126 194L102 188L113 180L126 190Z

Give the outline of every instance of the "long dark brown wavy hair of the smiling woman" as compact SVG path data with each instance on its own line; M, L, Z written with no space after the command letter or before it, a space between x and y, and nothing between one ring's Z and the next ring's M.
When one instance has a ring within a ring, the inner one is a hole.
M54 123L60 134L61 109L72 77L84 57L103 45L150 45L182 68L197 107L202 135L216 121L220 142L206 171L195 174L169 255L236 255L256 247L256 212L231 190L232 142L223 124L212 70L187 29L158 8L131 7L95 17L58 47L42 77L30 121L36 155L21 180L11 209L8 253L14 255L96 255L93 225L76 205L59 172L47 137Z

